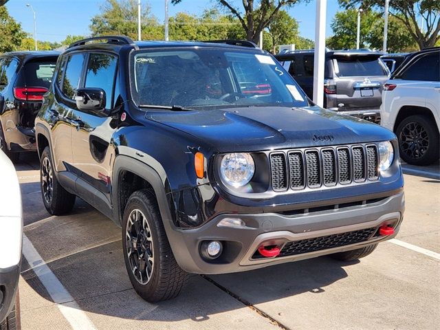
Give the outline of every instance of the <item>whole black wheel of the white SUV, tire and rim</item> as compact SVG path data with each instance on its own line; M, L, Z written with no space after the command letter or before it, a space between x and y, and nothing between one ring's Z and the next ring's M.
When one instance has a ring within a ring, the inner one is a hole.
M396 129L401 159L412 165L429 165L440 156L439 131L425 115L410 115Z

